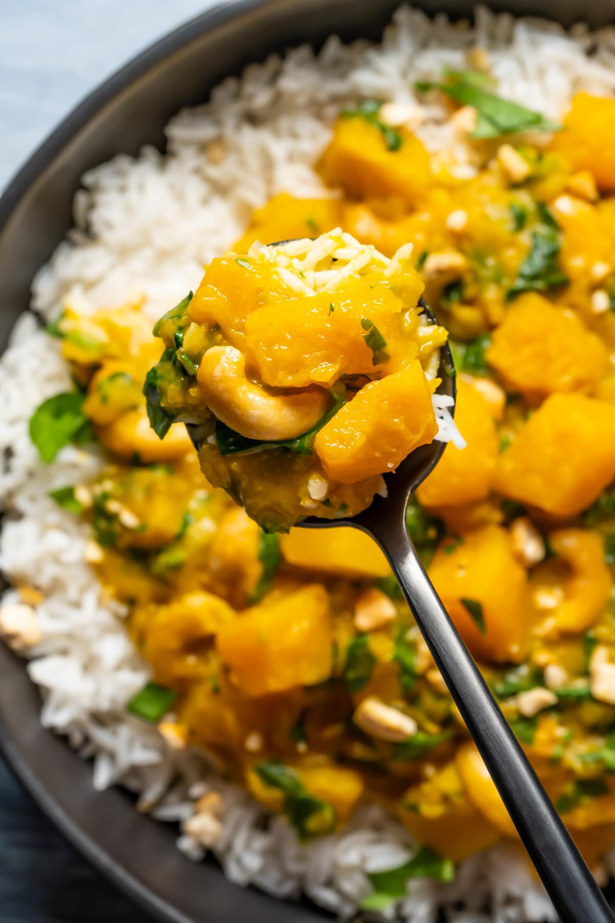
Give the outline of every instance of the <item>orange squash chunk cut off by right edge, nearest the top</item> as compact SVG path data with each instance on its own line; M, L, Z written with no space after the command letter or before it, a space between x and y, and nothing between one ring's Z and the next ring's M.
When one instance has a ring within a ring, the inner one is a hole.
M577 93L550 150L564 154L574 170L589 170L599 189L615 189L615 100Z

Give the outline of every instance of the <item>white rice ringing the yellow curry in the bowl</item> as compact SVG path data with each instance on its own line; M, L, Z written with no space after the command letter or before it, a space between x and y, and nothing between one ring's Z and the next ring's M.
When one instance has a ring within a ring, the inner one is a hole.
M195 288L203 265L242 234L254 207L282 190L331 195L313 163L341 106L367 97L414 103L415 80L437 76L444 65L463 67L474 45L490 51L503 96L531 100L551 118L562 116L578 90L615 92L614 29L575 28L567 35L552 23L485 9L471 29L404 7L381 45L346 46L332 37L317 57L306 46L284 59L272 55L247 67L242 78L225 80L207 104L178 114L167 129L168 156L145 148L136 159L119 156L84 176L76 229L38 274L32 307L54 318L67 303L94 310L143 297L143 310L157 318ZM459 169L470 175L473 166L444 115L441 102L430 100L418 134L430 150L458 149ZM207 160L213 140L226 150L222 162ZM35 330L32 315L21 318L0 365L6 458L0 495L9 510L0 567L9 581L37 587L45 597L38 606L43 640L28 665L41 688L43 725L93 758L94 785L128 786L160 821L187 820L196 797L219 790L224 830L214 852L231 881L252 882L278 897L304 892L350 916L370 891L365 871L396 866L413 847L396 821L377 807L361 808L341 833L299 845L283 818L264 825L266 809L223 784L203 754L171 752L155 728L124 712L147 666L125 634L124 607L105 596L84 561L87 528L47 496L87 480L101 458L66 448L47 467L28 436L35 407L68 383L57 343ZM444 419L445 402L439 410ZM7 602L17 598L16 591L6 593ZM181 781L169 789L177 771ZM178 846L195 859L205 852L185 834ZM612 854L606 865L615 870ZM460 902L465 909L453 909ZM510 845L467 859L454 884L410 881L407 898L389 918L433 923L439 906L456 923L556 919Z

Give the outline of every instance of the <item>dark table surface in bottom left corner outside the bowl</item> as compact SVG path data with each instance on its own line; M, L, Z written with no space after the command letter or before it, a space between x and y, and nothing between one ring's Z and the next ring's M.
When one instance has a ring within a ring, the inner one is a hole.
M2 923L153 923L69 845L0 758Z

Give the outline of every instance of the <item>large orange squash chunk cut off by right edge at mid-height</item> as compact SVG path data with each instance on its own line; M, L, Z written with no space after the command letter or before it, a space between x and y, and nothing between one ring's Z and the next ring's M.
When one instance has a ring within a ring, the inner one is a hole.
M582 394L551 394L500 456L504 497L575 516L615 478L615 407Z

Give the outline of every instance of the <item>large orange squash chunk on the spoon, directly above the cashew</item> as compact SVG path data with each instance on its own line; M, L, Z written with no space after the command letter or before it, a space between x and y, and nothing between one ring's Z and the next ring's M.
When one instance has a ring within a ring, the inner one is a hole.
M420 294L418 280L417 301ZM254 311L245 323L246 356L273 388L332 384L340 375L374 373L361 319L371 320L391 354L402 333L402 302L383 284L348 282L342 291L300 295ZM413 357L417 348L413 348Z

